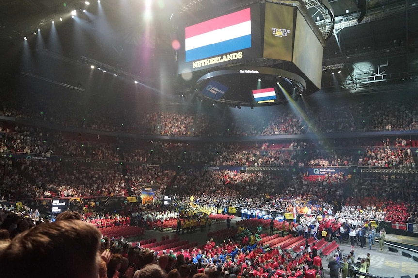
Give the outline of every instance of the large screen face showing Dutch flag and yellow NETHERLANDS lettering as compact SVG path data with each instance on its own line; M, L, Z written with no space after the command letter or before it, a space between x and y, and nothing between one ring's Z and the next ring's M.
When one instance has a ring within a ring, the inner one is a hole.
M222 15L182 29L178 52L179 73L227 63L244 63L261 55L260 7Z

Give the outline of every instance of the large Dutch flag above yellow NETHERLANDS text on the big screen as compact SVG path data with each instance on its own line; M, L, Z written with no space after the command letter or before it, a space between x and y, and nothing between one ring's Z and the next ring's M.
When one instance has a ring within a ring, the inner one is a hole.
M186 27L186 62L251 47L250 8Z

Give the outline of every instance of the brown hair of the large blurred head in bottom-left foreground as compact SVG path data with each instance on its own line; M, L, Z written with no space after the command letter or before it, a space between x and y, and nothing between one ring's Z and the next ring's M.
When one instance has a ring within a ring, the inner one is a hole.
M18 234L0 254L2 278L94 277L101 233L80 220L45 223Z

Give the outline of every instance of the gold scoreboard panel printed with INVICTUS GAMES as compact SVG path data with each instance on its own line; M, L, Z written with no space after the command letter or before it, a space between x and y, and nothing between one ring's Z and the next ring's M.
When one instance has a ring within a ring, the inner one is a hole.
M264 58L292 61L294 7L266 3L264 20Z

